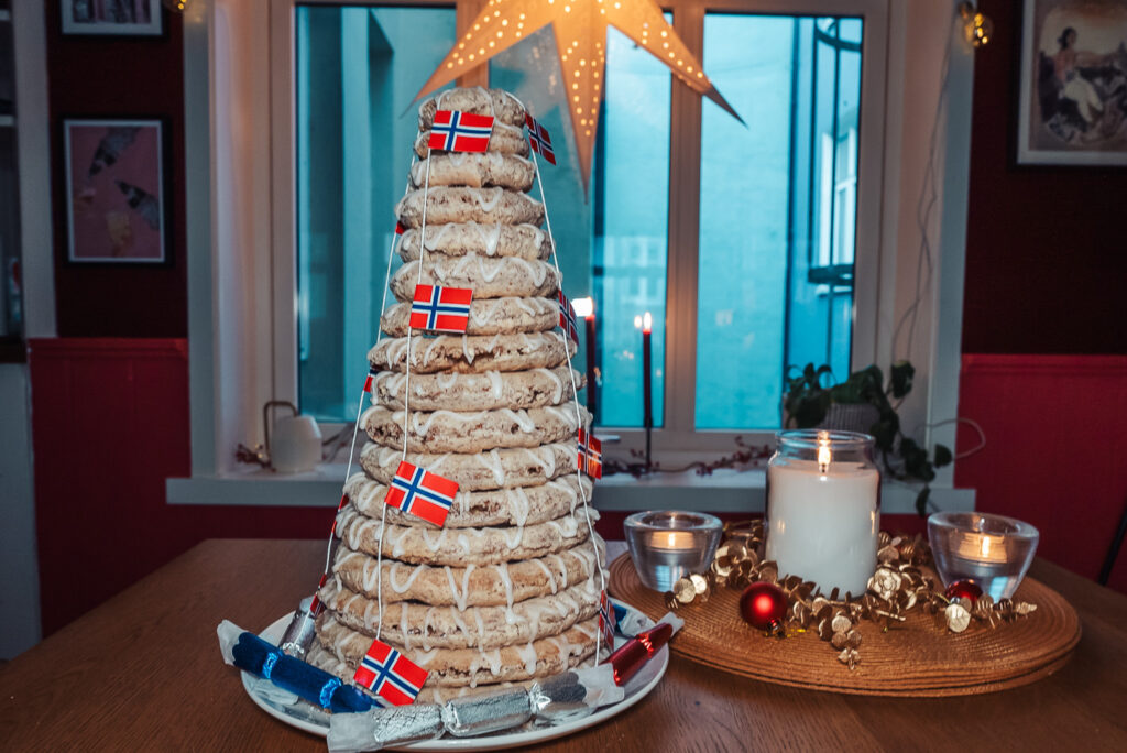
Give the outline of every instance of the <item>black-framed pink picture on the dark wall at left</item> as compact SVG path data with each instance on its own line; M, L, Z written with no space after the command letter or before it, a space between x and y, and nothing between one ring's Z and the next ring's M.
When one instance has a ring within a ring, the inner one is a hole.
M69 262L165 264L165 124L63 121Z

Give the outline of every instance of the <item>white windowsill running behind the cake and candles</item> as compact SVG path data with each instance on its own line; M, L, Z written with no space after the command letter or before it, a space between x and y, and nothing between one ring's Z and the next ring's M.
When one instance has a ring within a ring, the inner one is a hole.
M267 470L166 481L170 505L248 505L282 507L336 507L345 466L325 464L309 473L283 475ZM711 476L658 473L636 479L622 473L595 487L595 507L607 511L701 510L719 513L761 513L765 496L762 469L718 470ZM914 488L898 482L881 486L881 512L915 513ZM974 489L935 488L932 503L940 510L970 511Z

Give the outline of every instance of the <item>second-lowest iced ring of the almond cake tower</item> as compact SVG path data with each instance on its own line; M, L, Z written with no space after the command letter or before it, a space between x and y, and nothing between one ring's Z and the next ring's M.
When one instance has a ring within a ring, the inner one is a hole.
M432 648L424 652L390 645L431 673L427 685L485 685L564 672L594 654L597 635L598 618L595 617L577 622L558 636L488 652L479 648ZM331 612L325 612L317 619L317 637L322 648L353 671L372 645L370 637L340 624Z

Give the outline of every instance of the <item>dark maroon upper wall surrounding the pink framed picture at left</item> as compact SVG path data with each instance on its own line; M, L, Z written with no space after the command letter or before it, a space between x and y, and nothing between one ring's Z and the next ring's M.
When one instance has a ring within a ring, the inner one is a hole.
M47 24L54 197L55 299L62 337L185 337L187 258L184 209L184 44L181 18L165 14L162 37L63 36L61 6L43 3ZM165 118L168 266L66 263L66 184L62 119Z

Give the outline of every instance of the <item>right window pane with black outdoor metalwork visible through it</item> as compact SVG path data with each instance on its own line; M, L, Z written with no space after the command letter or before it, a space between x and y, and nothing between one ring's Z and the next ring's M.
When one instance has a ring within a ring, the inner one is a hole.
M698 428L777 427L787 365L849 370L861 21L849 24L843 48L838 19L704 18L706 70L748 126L704 103Z

